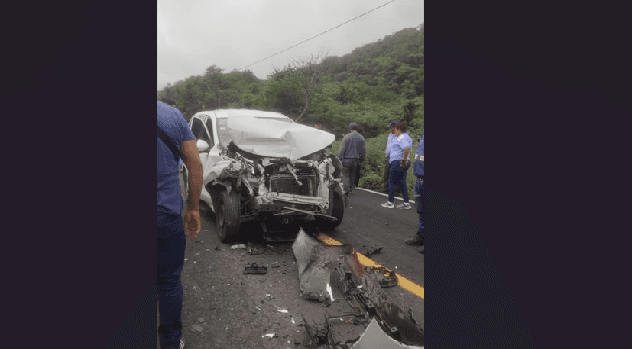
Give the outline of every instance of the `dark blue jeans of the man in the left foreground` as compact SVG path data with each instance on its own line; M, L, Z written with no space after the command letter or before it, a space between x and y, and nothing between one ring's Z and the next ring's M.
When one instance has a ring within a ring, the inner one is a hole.
M180 274L184 266L184 222L182 216L158 213L158 295L160 326L158 334L163 347L180 343L182 337L182 298Z

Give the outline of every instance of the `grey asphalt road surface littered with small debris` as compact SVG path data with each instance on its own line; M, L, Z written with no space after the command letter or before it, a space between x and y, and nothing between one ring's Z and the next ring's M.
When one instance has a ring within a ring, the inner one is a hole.
M404 243L404 239L416 231L417 212L414 208L383 208L380 204L385 201L380 194L355 190L349 198L343 222L324 233L351 244L361 253L370 247L381 248L380 253L370 256L373 261L423 286L424 255ZM251 241L251 246L262 252L258 255L232 249L233 244L219 241L214 215L205 210L203 203L200 206L202 231L196 240L187 238L181 276L186 347L306 348L305 328L300 326L304 314L326 311L335 315L342 307L336 302L323 307L300 297L291 242ZM258 229L252 223L242 226L248 235ZM253 262L267 266L267 274L243 274L245 265ZM423 299L400 287L384 290L389 299L398 298L411 307L413 317L424 328ZM266 336L273 333L271 338Z

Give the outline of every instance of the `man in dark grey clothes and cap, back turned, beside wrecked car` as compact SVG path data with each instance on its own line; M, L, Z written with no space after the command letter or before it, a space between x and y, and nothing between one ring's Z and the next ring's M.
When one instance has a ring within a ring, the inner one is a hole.
M342 162L342 186L347 196L354 189L356 167L366 159L366 143L358 133L358 125L350 123L349 131L342 138L338 150L338 159Z

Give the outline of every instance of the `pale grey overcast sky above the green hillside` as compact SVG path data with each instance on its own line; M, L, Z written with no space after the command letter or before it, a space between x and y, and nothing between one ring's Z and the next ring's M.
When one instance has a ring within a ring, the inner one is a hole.
M290 58L354 48L424 22L423 0L158 0L158 89L203 75L215 64L230 72L283 51L356 16L337 29L248 67L265 79Z

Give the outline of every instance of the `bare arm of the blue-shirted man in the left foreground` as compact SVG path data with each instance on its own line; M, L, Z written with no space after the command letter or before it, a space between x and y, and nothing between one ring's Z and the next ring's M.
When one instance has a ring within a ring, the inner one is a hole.
M187 235L195 239L202 229L200 219L200 193L202 192L202 163L195 146L195 140L182 142L182 157L189 169L189 197L190 203L184 216L184 229Z

